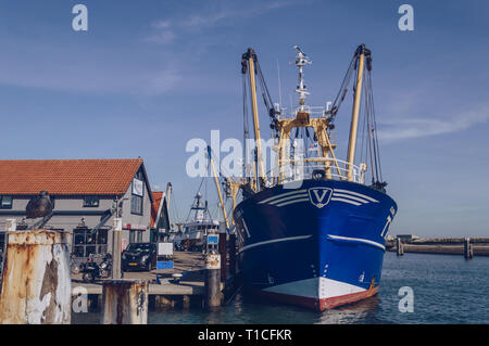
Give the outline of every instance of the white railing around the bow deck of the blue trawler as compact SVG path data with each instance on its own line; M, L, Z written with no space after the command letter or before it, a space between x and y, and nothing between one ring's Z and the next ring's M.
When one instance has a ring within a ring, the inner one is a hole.
M349 172L351 167L351 178ZM267 174L267 185L306 179L350 180L365 183L366 165L359 166L331 157L283 159Z

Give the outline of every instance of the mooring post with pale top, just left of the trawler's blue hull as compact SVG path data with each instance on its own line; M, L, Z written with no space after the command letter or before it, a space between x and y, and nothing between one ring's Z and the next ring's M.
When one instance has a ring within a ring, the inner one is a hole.
M204 306L212 309L221 306L221 255L211 252L205 256Z

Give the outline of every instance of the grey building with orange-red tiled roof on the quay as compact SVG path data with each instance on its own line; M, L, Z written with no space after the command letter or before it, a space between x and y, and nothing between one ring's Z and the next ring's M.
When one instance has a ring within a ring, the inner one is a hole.
M17 229L32 225L25 207L40 191L48 191L54 206L45 228L72 232L73 252L80 258L112 251L117 203L123 247L152 239L154 198L142 158L0 161L0 230L12 218Z

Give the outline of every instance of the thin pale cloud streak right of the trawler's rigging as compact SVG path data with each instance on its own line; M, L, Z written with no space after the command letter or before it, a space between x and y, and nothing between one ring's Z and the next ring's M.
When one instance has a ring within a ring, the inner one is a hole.
M465 114L439 118L403 118L383 121L378 137L383 141L392 142L406 139L438 136L466 130L489 120L489 106L481 105Z

